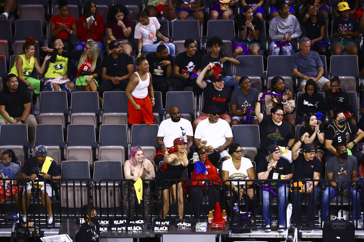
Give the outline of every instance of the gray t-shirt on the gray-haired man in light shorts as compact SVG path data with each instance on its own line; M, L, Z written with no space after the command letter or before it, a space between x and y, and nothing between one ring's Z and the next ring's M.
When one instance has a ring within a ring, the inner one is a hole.
M297 69L306 76L316 77L318 68L324 66L318 53L310 51L307 56L301 52L292 55L292 69Z

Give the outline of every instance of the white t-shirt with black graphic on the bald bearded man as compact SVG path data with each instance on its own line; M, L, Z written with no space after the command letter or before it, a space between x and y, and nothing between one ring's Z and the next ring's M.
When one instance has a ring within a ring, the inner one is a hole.
M193 130L191 122L184 118L178 122L173 122L171 118L168 118L159 125L157 137L163 137L163 143L166 147L173 147L173 141L178 137L187 142L187 136L193 136Z

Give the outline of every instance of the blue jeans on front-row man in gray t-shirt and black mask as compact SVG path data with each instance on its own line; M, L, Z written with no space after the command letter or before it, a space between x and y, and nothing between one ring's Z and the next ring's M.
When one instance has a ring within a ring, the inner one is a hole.
M349 190L350 192L350 201L352 201L353 206L354 206L354 211L352 214L352 218L353 220L356 220L357 217L359 217L359 213L360 213L360 194L357 193L357 191L355 189L353 189L352 187L348 187L348 186L344 186L343 187L345 190ZM329 189L330 189L330 198L329 198ZM328 186L326 187L323 197L322 197L322 221L325 222L328 219L329 216L329 203L330 200L334 197L336 197L336 195L341 195L340 193L337 192L337 190L335 188L333 188L332 186ZM357 197L356 197L357 196ZM339 202L341 198L339 197Z

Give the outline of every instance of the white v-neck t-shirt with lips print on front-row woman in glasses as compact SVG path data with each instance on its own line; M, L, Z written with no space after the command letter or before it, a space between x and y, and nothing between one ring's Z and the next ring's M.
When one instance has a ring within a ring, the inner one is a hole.
M240 168L237 170L233 164L233 158L227 159L222 163L222 170L226 170L229 172L230 180L249 180L248 169L252 168L252 162L245 157L241 157ZM235 186L238 185L238 182L232 182ZM240 185L245 185L245 182L240 182Z

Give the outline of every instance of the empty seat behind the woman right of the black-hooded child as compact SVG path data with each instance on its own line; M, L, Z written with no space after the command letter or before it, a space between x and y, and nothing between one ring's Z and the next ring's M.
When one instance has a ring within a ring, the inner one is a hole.
M339 76L341 88L347 92L356 92L359 86L359 67L357 56L331 56L330 78Z

